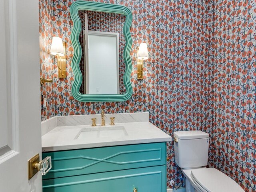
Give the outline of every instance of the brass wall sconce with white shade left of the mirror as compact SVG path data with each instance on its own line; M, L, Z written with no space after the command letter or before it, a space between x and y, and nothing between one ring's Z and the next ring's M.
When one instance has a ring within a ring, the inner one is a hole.
M58 58L59 78L66 78L66 44L59 37L52 38L50 54Z

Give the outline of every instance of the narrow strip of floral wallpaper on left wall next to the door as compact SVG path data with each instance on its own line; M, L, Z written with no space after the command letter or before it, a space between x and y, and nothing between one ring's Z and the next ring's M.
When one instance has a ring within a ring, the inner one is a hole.
M39 0L39 40L40 40L40 76L45 79L54 79L57 66L50 55L50 43L53 36L51 0ZM41 86L41 116L42 120L55 116L55 89L56 84L45 83ZM45 105L46 104L46 105Z

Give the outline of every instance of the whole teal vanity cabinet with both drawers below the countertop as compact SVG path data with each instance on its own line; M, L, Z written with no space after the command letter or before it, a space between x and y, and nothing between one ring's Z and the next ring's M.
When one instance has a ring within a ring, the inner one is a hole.
M166 192L166 142L44 152L43 192Z

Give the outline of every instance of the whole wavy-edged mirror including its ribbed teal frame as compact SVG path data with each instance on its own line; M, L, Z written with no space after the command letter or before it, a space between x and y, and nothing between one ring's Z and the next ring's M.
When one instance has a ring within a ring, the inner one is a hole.
M132 95L131 11L115 4L76 1L70 15L74 98L82 102L128 100Z

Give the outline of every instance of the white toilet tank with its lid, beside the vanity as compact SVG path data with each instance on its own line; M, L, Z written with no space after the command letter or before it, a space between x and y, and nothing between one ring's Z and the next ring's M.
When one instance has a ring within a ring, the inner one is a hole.
M208 163L209 134L202 131L174 132L174 158L180 168L198 168Z

